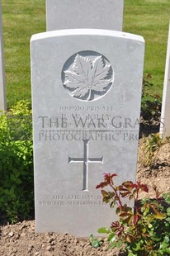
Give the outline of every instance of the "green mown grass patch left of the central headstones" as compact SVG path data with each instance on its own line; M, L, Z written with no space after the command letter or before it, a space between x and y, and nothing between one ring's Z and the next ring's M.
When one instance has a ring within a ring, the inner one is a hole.
M30 39L45 31L45 0L2 0L7 107L31 100Z

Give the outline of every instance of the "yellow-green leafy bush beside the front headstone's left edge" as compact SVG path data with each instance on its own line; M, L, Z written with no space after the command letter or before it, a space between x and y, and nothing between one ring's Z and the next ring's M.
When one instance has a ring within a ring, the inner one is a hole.
M34 208L31 137L29 102L0 115L0 215L12 223L26 219Z

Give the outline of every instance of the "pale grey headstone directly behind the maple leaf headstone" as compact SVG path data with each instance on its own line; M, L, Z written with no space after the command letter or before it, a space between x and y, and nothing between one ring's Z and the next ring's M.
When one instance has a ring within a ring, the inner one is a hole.
M124 0L46 0L46 29L122 31Z

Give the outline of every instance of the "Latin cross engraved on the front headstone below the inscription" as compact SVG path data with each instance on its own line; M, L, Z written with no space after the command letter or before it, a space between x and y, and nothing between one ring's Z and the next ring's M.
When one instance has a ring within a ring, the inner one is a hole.
M101 158L89 158L88 145L90 140L83 140L83 158L71 158L68 156L68 164L71 163L83 163L83 191L88 191L88 164L89 163L102 163Z

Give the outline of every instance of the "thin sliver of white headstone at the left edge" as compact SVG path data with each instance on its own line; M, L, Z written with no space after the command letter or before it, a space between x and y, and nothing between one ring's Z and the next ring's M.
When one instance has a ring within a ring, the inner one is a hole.
M5 85L5 71L3 59L3 40L2 40L2 5L0 1L0 111L7 110L7 96Z

